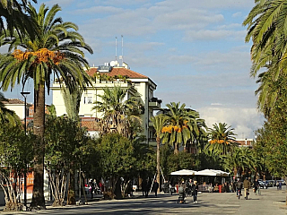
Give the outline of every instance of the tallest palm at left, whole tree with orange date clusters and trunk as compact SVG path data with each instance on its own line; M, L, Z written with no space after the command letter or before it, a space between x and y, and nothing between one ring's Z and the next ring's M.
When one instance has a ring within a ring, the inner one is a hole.
M45 207L44 200L44 122L45 122L45 87L50 87L51 75L57 77L71 91L75 87L85 88L90 81L83 66L88 69L83 50L92 53L91 47L84 43L83 37L76 31L72 22L63 22L56 18L61 8L56 4L50 10L45 4L39 7L39 13L29 5L27 13L37 23L38 34L33 40L26 33L21 39L17 32L2 38L3 44L10 44L9 53L0 59L0 82L7 90L15 83L24 85L28 79L34 81L34 133L42 140L38 146L34 167L34 186L31 207ZM21 47L22 50L17 49ZM13 51L13 53L11 53Z

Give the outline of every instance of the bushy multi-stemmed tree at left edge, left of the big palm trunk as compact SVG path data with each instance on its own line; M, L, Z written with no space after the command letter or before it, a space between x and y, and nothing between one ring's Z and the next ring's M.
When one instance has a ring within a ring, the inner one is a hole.
M22 126L0 125L0 186L4 191L4 211L21 211L22 202L17 198L22 193L20 178L33 166L34 145L38 139L25 133Z

